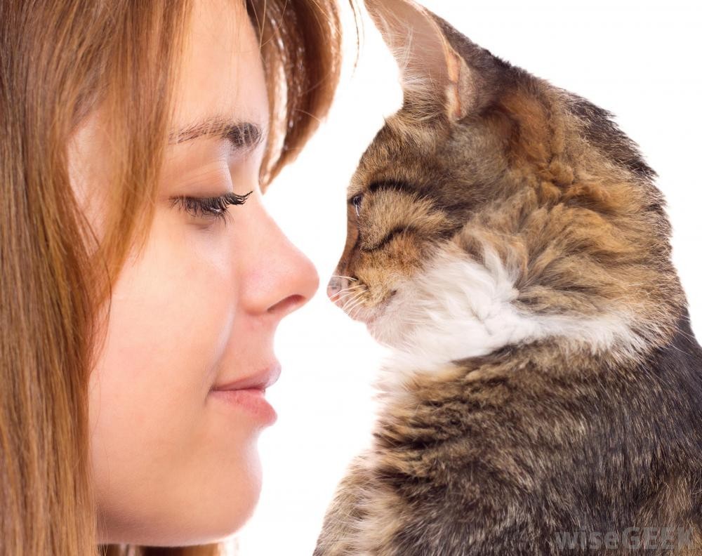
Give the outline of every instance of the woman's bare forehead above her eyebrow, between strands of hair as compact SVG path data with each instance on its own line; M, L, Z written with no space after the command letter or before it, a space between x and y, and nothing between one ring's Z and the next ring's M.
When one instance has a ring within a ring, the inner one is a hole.
M246 122L265 133L268 100L258 37L243 3L199 2L192 13L176 84L174 129Z

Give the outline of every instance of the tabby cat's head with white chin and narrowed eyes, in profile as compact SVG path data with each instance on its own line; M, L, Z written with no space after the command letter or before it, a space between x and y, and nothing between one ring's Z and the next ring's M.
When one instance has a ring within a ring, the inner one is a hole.
M411 1L366 6L404 103L352 178L331 298L383 343L446 360L557 335L631 352L670 332L664 201L611 114Z

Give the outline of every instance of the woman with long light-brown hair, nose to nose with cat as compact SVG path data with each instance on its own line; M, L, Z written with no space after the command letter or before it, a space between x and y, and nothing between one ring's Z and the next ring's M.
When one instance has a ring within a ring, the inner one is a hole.
M329 106L336 8L4 0L0 29L0 555L217 553L317 289L260 195Z

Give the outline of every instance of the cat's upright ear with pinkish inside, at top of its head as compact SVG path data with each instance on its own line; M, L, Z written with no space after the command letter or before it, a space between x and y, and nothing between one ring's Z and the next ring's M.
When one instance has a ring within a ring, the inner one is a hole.
M451 121L470 110L472 79L432 15L411 0L365 0L366 8L399 65L404 103Z

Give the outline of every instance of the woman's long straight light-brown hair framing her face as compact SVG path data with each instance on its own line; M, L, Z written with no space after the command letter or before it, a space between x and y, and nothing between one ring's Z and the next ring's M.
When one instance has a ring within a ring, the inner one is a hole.
M326 113L340 68L333 2L247 0L274 131L262 187ZM111 285L143 248L172 115L187 0L0 2L0 556L214 555L220 545L97 545L88 376ZM96 107L115 192L98 241L67 143Z

